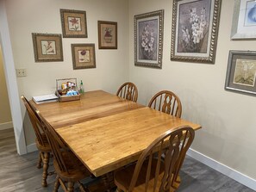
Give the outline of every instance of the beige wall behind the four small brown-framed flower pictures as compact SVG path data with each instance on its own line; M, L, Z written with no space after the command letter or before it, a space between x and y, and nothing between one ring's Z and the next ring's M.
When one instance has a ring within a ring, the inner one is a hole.
M106 90L115 93L128 80L128 2L126 0L8 0L6 9L16 68L27 69L19 77L20 95L52 93L57 78L77 77L84 90ZM62 34L59 9L85 10L88 38L63 38L63 62L35 63L31 33ZM118 23L118 49L99 50L97 21ZM96 69L72 69L72 43L95 43ZM34 143L25 108L22 104L27 145Z

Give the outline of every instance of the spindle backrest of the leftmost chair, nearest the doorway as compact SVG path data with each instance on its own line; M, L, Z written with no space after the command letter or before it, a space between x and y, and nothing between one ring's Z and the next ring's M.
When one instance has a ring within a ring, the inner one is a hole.
M22 96L22 101L24 102L24 105L27 108L28 117L34 129L36 139L38 140L41 146L46 146L46 140L43 139L43 136L42 136L42 133L44 133L44 129L43 129L44 125L41 123L38 115L35 113L34 109L31 107L31 105L29 104L25 96Z

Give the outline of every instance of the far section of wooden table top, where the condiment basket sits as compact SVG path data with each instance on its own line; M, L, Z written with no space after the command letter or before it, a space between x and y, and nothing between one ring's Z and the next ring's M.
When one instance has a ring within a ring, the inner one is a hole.
M86 92L78 101L30 103L54 129L145 107L103 90Z

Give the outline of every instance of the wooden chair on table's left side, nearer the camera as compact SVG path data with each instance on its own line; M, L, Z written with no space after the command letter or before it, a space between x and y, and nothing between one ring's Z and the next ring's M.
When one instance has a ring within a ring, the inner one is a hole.
M41 116L39 111L37 111L37 114L46 125L45 133L53 151L53 166L57 173L53 191L58 191L59 185L61 185L65 191L72 192L74 191L75 183L78 183L81 191L89 191L89 189L84 188L80 180L90 177L90 171L85 168L84 164L65 145L63 140L59 138L53 127Z

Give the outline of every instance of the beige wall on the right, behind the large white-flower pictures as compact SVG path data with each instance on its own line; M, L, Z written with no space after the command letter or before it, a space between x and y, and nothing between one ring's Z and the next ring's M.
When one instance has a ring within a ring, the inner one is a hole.
M256 179L256 102L254 96L224 90L229 50L255 50L255 40L230 40L234 1L222 1L215 65L174 62L171 57L172 1L129 1L129 77L147 104L159 90L173 90L182 117L200 123L192 148ZM134 15L165 9L163 69L134 66ZM148 86L150 84L150 86Z

